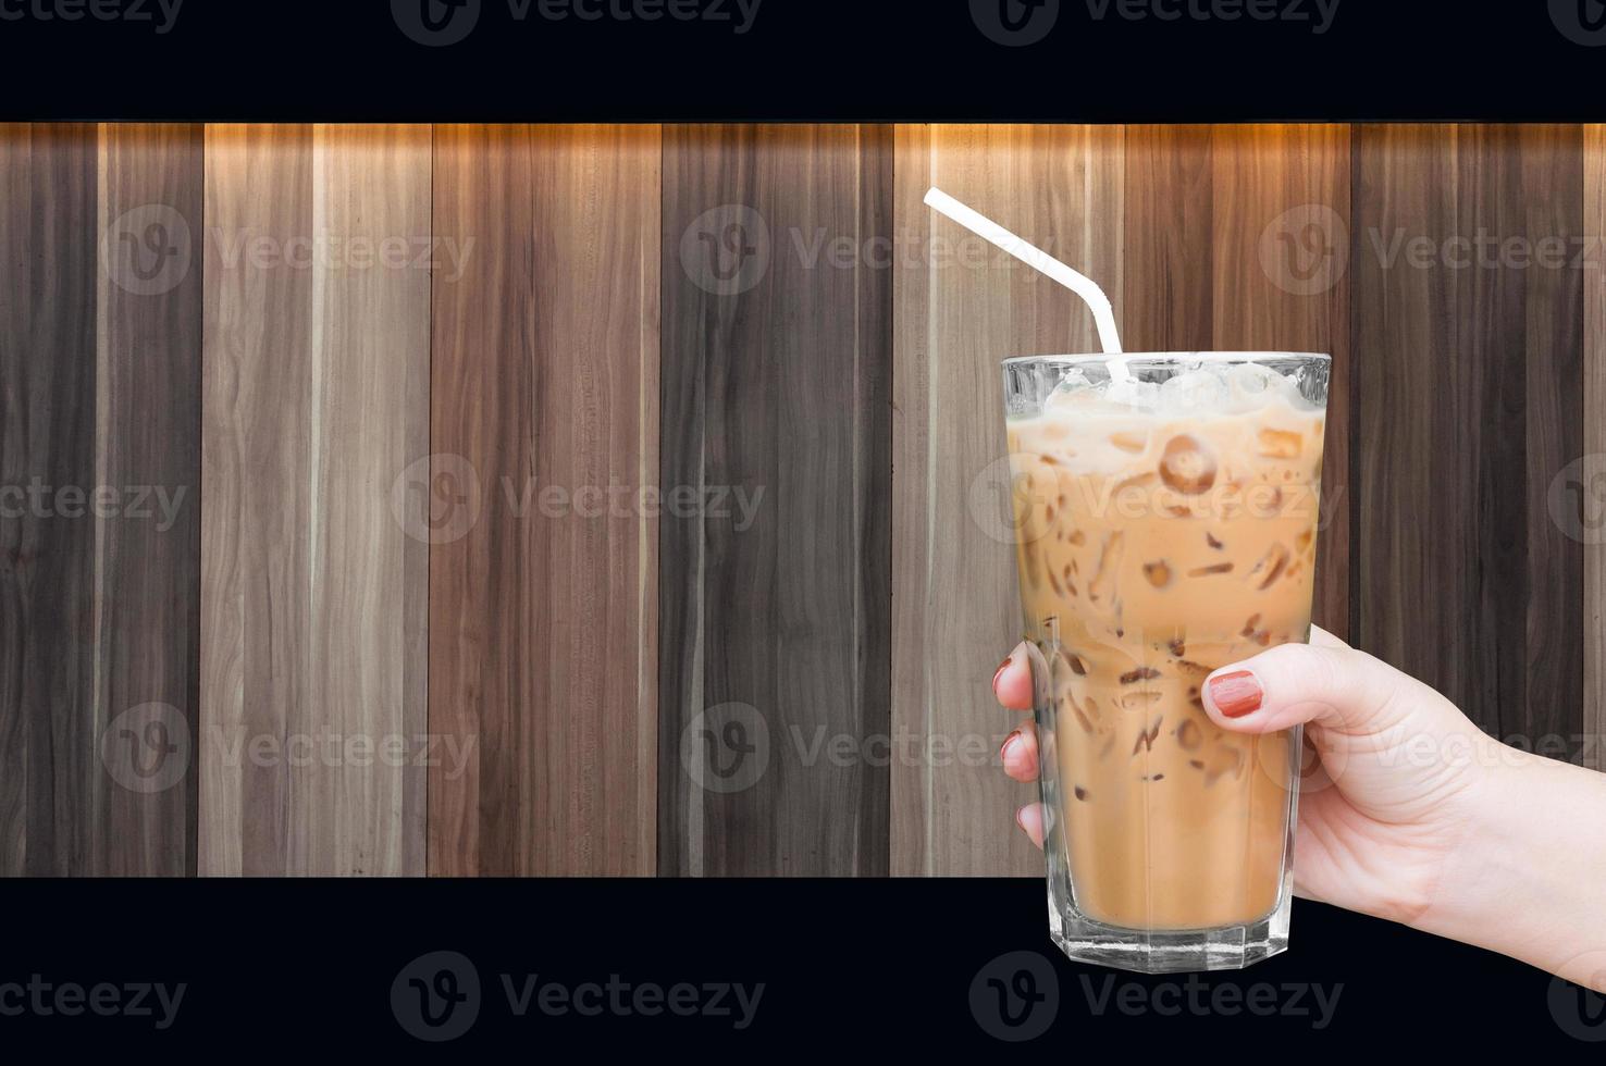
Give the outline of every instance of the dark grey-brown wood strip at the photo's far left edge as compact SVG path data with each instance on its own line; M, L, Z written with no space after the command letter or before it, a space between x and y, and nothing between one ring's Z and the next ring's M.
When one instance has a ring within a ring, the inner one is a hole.
M0 287L0 872L95 872L95 523L55 507L95 483L96 127L8 125ZM22 494L43 486L51 498Z

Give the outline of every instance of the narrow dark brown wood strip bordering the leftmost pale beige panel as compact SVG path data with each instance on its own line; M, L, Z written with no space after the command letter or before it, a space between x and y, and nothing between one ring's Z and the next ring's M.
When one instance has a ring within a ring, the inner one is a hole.
M111 777L98 870L193 877L202 128L108 124L100 140L95 483L128 506L96 530L96 727Z

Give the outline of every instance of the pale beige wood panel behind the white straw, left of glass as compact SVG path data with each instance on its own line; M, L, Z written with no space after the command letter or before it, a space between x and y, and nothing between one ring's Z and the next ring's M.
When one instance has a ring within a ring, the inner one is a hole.
M1094 278L1123 270L1119 127L899 125L893 458L893 872L1041 875L1013 830L1034 790L1004 777L1018 726L991 681L1020 633L1002 371L1097 352L1071 294L922 204L936 185ZM1116 321L1121 289L1110 286ZM912 753L912 758L911 758Z

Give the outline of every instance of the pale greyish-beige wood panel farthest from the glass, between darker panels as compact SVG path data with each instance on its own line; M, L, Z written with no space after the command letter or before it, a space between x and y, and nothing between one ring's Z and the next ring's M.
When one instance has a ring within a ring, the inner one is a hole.
M430 130L206 136L201 872L421 873Z

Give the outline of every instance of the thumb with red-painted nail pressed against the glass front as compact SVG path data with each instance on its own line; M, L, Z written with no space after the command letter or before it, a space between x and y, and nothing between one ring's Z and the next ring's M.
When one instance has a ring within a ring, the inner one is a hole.
M1410 684L1392 666L1338 642L1283 644L1214 671L1203 697L1211 719L1233 732L1277 732L1314 721L1376 734L1396 724L1402 703L1396 697Z

